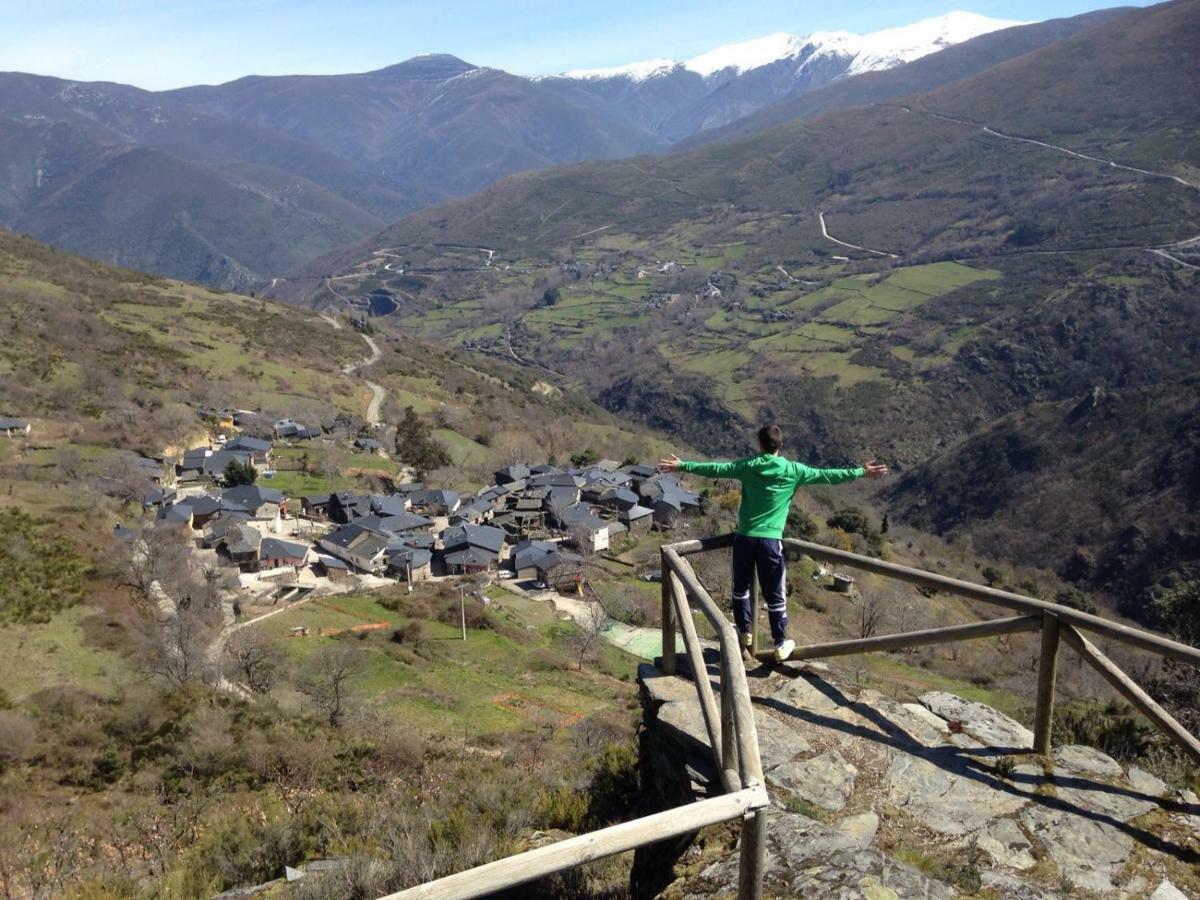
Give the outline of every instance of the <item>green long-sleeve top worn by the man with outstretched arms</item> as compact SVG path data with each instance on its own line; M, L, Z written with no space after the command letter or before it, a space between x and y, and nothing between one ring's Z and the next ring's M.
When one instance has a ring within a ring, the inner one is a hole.
M760 454L733 462L680 462L680 472L742 482L738 534L748 538L782 538L787 508L800 485L839 485L865 475L853 469L814 469L778 454Z

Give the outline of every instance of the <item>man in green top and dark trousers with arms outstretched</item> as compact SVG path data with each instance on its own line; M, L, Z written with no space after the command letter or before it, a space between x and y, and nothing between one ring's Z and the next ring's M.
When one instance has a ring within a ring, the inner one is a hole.
M742 482L738 532L733 536L733 620L743 647L750 647L754 628L750 583L757 571L779 661L796 649L796 642L787 637L787 562L782 545L792 494L800 485L838 485L888 474L887 466L874 461L853 469L814 469L780 456L782 445L784 433L779 426L764 425L758 430L762 452L757 456L733 462L685 462L678 456L659 460L660 472L689 472Z

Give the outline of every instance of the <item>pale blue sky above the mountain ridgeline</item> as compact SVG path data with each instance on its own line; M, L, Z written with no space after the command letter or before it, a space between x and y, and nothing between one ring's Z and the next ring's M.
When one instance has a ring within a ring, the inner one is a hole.
M364 72L452 53L518 74L684 59L772 31L872 31L970 10L1074 16L1099 0L0 0L0 71L163 89L244 74ZM1136 4L1145 5L1145 4Z

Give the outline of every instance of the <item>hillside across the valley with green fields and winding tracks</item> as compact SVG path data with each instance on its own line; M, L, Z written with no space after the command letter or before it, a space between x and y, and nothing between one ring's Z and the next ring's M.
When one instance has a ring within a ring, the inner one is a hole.
M342 294L390 290L402 328L558 372L709 452L738 452L775 416L814 461L907 469L1094 388L1186 406L1200 106L1178 85L1195 80L1198 41L1200 5L1165 4L893 106L520 175L280 289L329 304L324 276L340 274ZM1051 456L1103 439L1051 436ZM1165 472L1160 490L1182 497L1186 476ZM1013 534L986 546L1020 557L1063 491L1090 493L1079 467L1014 481L988 509ZM1133 499L1110 498L1106 521L1139 520ZM918 521L960 535L970 518ZM1172 524L1148 521L1150 542L1175 540ZM1075 540L1106 547L1108 528ZM1074 546L1054 546L1037 558L1064 564Z

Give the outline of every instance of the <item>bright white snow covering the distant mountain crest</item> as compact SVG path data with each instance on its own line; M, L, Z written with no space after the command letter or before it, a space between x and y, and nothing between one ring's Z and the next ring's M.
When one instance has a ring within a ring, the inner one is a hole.
M776 31L752 41L725 44L692 56L684 62L670 59L652 59L612 68L580 68L563 72L564 78L628 78L644 82L656 76L670 74L678 68L708 78L718 72L749 72L780 60L800 59L803 66L811 58L844 56L850 62L847 74L859 74L881 68L892 68L904 62L936 53L972 37L990 31L1026 24L1008 19L992 19L973 12L948 12L931 19L922 19L911 25L854 35L848 31L816 31L806 37Z

